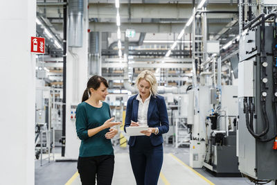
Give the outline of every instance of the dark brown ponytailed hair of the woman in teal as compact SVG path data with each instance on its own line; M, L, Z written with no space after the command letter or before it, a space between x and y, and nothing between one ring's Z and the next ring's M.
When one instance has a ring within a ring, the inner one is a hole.
M107 83L107 80L105 78L102 78L102 76L92 76L89 78L89 81L87 82L87 89L84 90L84 94L82 95L82 102L89 99L89 95L91 94L91 91L89 89L97 90L100 87L101 82L108 88L109 85Z

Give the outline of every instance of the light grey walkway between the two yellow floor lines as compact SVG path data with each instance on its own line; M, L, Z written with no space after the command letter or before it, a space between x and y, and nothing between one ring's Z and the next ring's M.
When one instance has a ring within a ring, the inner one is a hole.
M136 184L129 162L129 154L115 154L115 169L113 185ZM195 170L184 164L172 154L164 154L163 168L159 177L159 185L174 184L213 184L208 179L197 173ZM80 185L80 177L75 173L66 185Z

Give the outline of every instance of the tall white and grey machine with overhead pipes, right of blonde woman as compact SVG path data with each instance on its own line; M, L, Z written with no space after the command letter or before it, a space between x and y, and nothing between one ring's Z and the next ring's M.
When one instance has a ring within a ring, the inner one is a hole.
M203 24L197 24L200 21ZM209 45L211 41L206 38L205 13L195 16L193 25L193 37L202 34L203 43L193 44L193 89L188 91L188 96L191 96L188 125L191 125L192 132L190 166L204 166L216 176L238 176L240 172L235 147L238 86L222 80L225 74L222 73L220 43ZM225 65L229 66L229 63Z

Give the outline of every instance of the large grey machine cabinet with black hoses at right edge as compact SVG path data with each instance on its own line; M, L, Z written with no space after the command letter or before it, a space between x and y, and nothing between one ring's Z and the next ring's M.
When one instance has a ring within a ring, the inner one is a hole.
M244 25L240 37L238 162L255 184L277 179L276 17L260 14Z

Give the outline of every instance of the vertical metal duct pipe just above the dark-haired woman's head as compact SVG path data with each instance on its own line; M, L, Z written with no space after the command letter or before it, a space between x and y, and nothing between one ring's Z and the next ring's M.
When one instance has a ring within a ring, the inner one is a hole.
M100 33L89 33L89 75L101 75Z

